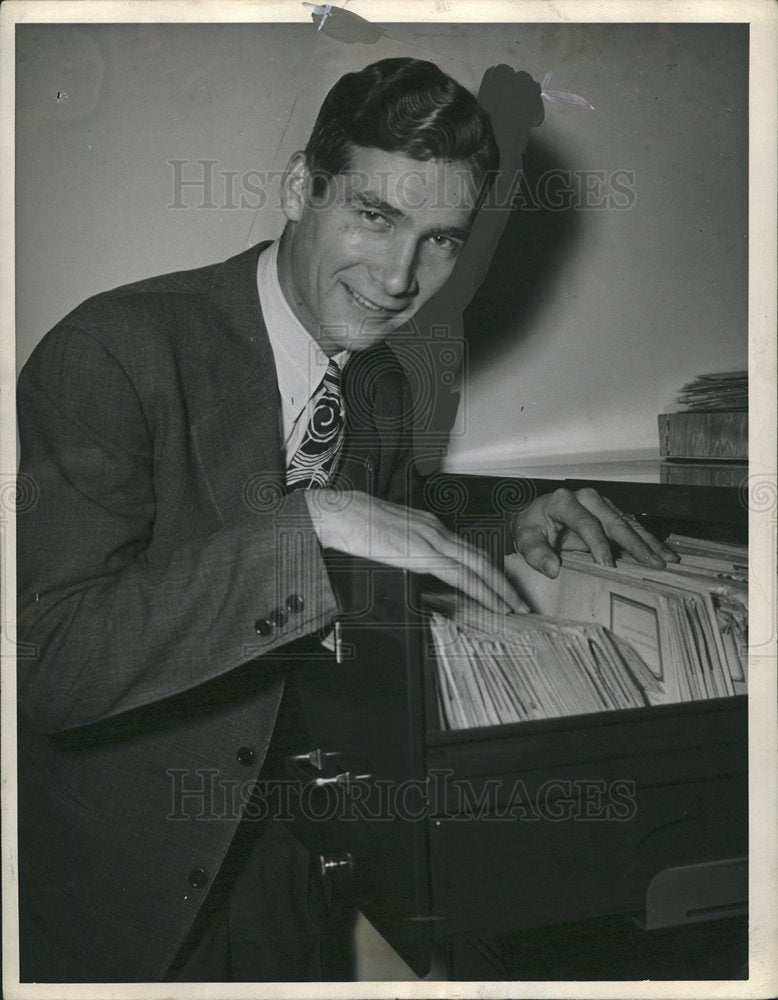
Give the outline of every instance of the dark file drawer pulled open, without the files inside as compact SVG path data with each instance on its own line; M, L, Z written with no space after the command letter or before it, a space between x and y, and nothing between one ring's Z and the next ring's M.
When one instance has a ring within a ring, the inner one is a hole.
M309 742L288 760L309 783L295 831L353 866L417 973L433 939L644 917L659 873L747 854L745 697L442 731L417 587L345 573L340 662L296 672ZM705 915L743 903L713 892Z

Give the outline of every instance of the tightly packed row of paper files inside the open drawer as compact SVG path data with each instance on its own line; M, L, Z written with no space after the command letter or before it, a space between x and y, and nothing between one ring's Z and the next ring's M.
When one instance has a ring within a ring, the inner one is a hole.
M449 729L722 698L746 691L748 550L671 535L679 563L598 566L565 553L556 580L508 556L532 613L428 594Z

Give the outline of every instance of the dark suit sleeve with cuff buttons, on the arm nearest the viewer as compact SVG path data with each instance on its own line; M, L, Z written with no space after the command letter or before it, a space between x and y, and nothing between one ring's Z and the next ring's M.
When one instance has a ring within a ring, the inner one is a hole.
M102 344L71 340L56 365L36 352L18 386L32 502L17 517L17 621L34 650L19 659L18 703L44 732L195 687L337 611L299 493L158 554L143 406Z

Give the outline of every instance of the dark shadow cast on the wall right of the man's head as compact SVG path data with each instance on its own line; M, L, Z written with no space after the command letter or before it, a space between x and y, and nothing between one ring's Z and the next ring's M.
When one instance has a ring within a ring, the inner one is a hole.
M574 198L544 179L566 176L556 150L533 136L524 175L485 281L465 310L469 372L528 336L581 233ZM555 206L559 207L555 207Z

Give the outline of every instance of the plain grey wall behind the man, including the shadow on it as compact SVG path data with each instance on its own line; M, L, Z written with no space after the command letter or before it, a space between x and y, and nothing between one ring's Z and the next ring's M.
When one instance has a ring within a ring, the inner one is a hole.
M385 27L380 52L340 47L350 65L432 53L472 86L506 62L596 108L546 103L533 130L523 208L466 313L446 467L656 453L683 382L746 367L747 28ZM304 140L332 51L312 25L17 28L19 367L87 296L280 232L277 184L258 210L250 172ZM176 191L176 170L212 179ZM586 178L588 204L565 203Z

